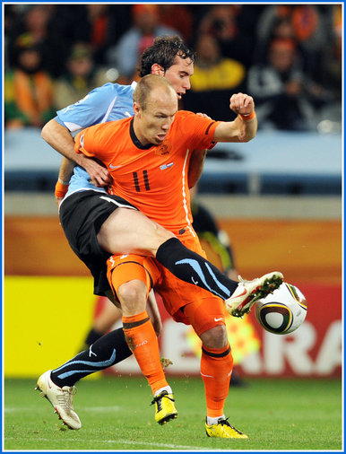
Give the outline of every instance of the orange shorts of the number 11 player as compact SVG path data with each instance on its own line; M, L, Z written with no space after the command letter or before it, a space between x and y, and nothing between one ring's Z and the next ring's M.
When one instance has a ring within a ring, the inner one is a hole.
M197 238L190 234L184 237L179 240L182 240L187 248L205 257ZM173 319L192 325L197 335L217 325L225 325L225 305L221 298L195 284L177 279L154 258L135 254L112 256L108 258L107 266L108 281L116 295L121 284L138 279L146 285L147 294L151 288L159 292Z

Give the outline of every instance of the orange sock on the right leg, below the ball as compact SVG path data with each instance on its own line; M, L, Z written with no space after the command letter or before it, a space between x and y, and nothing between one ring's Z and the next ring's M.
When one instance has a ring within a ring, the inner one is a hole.
M229 344L223 348L202 346L201 375L204 382L207 416L223 415L223 406L229 395L229 380L233 356Z

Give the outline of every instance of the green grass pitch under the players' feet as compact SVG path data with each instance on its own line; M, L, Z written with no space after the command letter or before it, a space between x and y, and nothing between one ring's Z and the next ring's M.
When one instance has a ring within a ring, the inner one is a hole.
M178 418L154 422L143 378L82 380L65 429L35 380L4 380L4 450L342 450L340 380L247 380L229 391L229 422L248 440L208 438L200 379L169 377Z

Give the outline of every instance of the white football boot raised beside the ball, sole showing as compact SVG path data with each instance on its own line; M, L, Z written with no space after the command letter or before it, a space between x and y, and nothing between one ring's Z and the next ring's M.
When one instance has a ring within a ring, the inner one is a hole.
M240 275L238 279L237 289L225 301L226 309L233 317L243 317L251 310L255 301L279 288L283 282L283 275L279 271L274 271L262 277L257 277L253 281L245 281Z

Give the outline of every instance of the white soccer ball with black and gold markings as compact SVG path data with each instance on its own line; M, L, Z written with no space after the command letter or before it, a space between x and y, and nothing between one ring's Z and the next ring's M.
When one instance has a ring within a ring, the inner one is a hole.
M256 301L255 317L270 333L289 334L307 317L307 301L297 287L282 283L278 289Z

